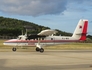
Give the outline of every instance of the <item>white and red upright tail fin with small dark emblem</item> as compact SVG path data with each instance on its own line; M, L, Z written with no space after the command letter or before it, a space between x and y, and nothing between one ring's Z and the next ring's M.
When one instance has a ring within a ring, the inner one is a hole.
M86 34L88 29L88 20L81 19L72 35L72 37L81 41L86 40Z

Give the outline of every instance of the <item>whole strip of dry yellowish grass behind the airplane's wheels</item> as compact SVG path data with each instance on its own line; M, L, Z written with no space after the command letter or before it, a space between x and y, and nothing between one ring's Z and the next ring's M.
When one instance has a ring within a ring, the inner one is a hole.
M5 40L0 40L0 51L12 51L13 46L5 46L3 42ZM17 51L29 52L35 51L35 47L17 47ZM92 50L92 43L69 43L54 46L46 46L45 50Z

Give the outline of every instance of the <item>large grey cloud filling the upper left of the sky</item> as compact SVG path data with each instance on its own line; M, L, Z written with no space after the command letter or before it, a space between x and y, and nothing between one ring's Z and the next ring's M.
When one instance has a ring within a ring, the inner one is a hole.
M66 4L67 0L0 0L0 11L29 16L60 14Z

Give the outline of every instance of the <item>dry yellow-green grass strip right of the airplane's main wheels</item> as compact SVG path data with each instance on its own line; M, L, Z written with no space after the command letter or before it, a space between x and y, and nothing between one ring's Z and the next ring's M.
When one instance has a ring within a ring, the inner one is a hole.
M92 43L70 43L48 47L57 50L92 50Z

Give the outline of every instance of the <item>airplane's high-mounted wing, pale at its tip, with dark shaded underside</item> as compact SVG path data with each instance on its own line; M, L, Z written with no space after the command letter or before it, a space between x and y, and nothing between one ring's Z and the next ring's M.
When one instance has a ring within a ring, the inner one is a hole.
M57 33L57 31L55 31L55 30L43 30L40 33L38 33L37 35L27 36L27 39L30 40L30 39L36 39L36 38L44 38L46 36L49 36L49 35L52 35L55 33Z

